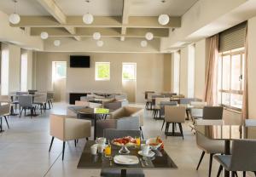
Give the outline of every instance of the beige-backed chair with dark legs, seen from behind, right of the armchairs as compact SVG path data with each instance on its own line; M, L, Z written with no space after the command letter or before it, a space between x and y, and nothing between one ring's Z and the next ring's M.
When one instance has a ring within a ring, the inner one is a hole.
M169 125L172 123L172 133L170 135L172 136L183 136L183 126L182 123L185 122L185 116L186 115L186 107L184 106L165 106L165 121L166 121L166 137L168 136L169 131ZM180 134L177 134L175 132L175 123L178 124Z

